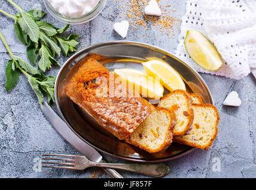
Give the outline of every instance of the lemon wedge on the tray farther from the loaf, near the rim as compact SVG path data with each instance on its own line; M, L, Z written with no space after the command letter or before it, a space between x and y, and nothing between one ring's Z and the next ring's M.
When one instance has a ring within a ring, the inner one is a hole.
M154 59L142 64L147 74L153 77L159 77L162 85L169 91L177 89L186 90L180 74L166 62Z

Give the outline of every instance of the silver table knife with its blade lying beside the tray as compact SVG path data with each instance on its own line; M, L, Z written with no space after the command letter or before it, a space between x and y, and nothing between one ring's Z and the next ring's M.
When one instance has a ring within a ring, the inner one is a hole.
M73 147L76 148L81 154L86 156L93 162L104 162L102 156L98 153L95 148L91 147L85 143L81 138L79 138L70 128L67 126L66 122L54 112L53 109L47 104L42 103L40 105L42 112L44 113L45 118L50 122L51 125L58 131L58 133ZM113 169L104 169L112 178L124 178L116 170Z

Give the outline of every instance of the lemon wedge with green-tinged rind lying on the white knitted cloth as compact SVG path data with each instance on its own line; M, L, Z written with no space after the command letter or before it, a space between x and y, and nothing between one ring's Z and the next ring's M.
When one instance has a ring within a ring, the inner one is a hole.
M188 30L184 45L187 53L202 68L209 71L218 70L222 61L217 49L197 30Z

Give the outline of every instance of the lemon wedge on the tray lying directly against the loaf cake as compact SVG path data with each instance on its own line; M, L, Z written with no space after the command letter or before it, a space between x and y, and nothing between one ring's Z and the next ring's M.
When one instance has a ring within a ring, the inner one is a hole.
M115 69L114 73L132 85L133 89L140 92L141 96L150 99L159 99L163 96L164 87L160 80L149 77L144 72L134 69ZM129 89L129 88L128 88Z

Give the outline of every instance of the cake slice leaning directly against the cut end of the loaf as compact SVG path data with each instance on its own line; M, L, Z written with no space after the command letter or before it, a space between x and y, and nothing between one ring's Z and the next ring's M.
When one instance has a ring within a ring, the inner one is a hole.
M174 112L163 107L147 116L125 141L149 153L164 151L172 143L172 128L175 125Z

